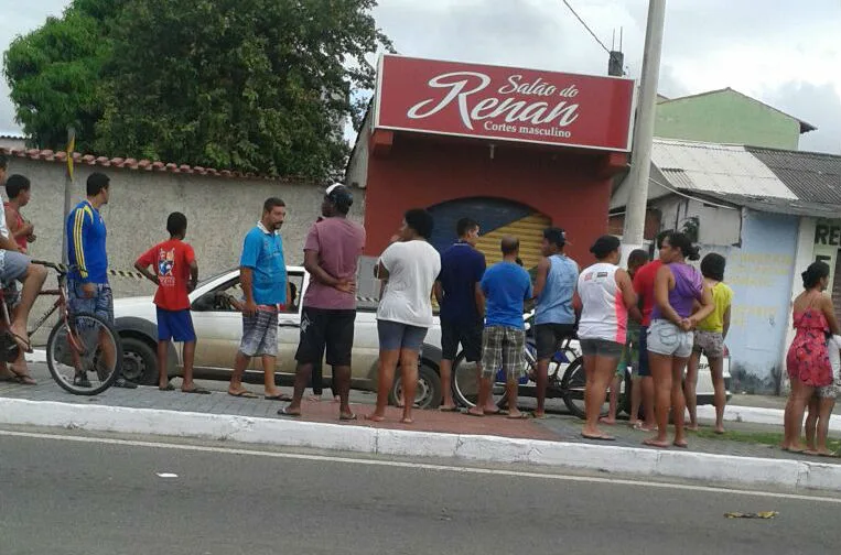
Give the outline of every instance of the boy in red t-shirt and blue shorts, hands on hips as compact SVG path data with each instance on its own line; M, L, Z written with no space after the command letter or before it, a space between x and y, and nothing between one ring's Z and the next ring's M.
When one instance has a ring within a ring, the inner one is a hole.
M186 216L181 213L170 214L166 230L170 240L155 244L134 262L134 268L158 285L154 295L158 307L158 388L161 391L175 389L166 373L166 351L170 340L174 340L184 344L184 381L181 391L207 394L209 391L193 383L196 336L187 294L198 281L198 264L193 248L184 242L187 235ZM153 266L154 272L149 271L149 266Z

